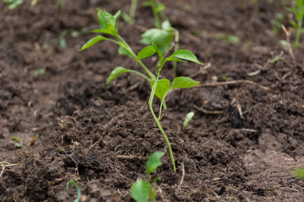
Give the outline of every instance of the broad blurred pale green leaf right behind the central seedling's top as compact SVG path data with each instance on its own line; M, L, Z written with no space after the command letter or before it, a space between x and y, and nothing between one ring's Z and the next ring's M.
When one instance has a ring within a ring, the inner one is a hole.
M154 42L157 44L159 50L163 52L167 52L169 50L170 44L173 39L173 35L171 32L155 28L147 30L144 34L141 35L141 37L141 44L151 45L151 37L151 39L154 40Z

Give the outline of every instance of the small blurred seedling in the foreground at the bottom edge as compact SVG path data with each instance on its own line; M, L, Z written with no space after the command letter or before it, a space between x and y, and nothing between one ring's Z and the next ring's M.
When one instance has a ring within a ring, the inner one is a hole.
M162 165L160 158L164 155L164 152L153 152L148 158L146 169L147 179L140 180L134 183L131 187L131 196L137 202L148 202L151 198L152 202L155 202L156 188L155 183L160 177L153 179L152 186L150 185L150 174L157 169L158 166Z

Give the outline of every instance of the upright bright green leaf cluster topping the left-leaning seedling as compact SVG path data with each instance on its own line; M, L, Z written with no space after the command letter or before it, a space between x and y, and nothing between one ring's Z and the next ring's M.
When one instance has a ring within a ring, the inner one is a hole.
M98 11L100 28L104 30L108 30L109 32L107 34L117 36L118 35L117 19L120 15L120 10L115 15L111 15L105 10L102 11L99 8L97 8L97 11Z

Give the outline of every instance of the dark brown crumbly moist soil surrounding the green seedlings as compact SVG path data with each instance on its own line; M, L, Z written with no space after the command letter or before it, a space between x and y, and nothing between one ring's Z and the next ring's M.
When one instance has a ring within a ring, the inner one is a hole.
M280 1L162 1L180 49L205 64L178 63L177 76L201 83L172 91L160 120L176 173L149 110L149 82L127 73L105 85L116 66L141 67L111 42L76 51L96 36L89 33L98 28L96 7L128 12L130 1L56 2L28 0L10 11L0 3L0 161L14 164L1 163L1 202L68 202L69 180L79 186L80 202L132 202L130 188L145 179L155 151L166 152L151 176L161 177L156 201L303 201L304 180L293 167L304 164L304 38L293 59L280 44L285 33L272 32L275 13L284 12ZM292 17L284 22L291 41ZM136 53L150 28L149 7L138 6L135 25L119 22ZM65 49L55 43L60 36ZM156 59L143 59L153 72ZM34 75L39 69L45 72ZM172 73L167 64L161 76L172 81ZM193 120L182 129L190 111ZM72 185L70 193L76 199Z

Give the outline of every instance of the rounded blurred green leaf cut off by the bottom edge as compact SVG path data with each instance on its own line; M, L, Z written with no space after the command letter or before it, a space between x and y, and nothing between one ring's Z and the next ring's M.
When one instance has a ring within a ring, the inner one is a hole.
M140 180L132 185L130 192L135 201L148 202L150 198L151 187L145 180Z

